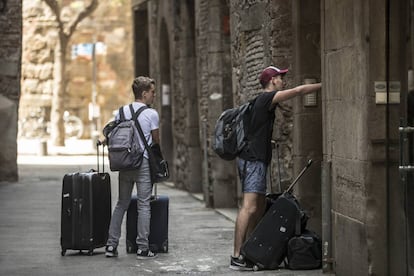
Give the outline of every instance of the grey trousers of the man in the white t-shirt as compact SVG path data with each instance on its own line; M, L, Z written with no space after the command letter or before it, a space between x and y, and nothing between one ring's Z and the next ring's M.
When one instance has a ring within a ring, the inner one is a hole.
M148 235L150 230L151 207L150 199L152 184L148 159L143 158L138 170L119 172L119 198L109 226L109 235L106 245L117 247L121 237L121 225L126 210L131 201L134 184L137 186L137 246L138 249L148 250Z

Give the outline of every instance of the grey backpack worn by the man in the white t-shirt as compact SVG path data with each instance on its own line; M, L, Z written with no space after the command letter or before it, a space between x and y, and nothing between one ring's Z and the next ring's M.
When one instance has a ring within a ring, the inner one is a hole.
M134 113L129 105L132 118L125 119L123 107L119 108L119 120L108 123L104 128L107 140L109 167L111 171L138 169L141 166L145 148L140 146L140 134L135 126L139 114L147 109L143 106Z

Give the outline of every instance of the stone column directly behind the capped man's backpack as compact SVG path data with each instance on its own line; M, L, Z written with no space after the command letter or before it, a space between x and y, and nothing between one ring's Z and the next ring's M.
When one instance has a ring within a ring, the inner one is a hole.
M234 162L221 160L211 150L211 137L221 112L233 106L229 8L225 1L197 1L196 49L200 125L204 134L203 191L207 206L235 207L237 175ZM205 141L207 139L207 141Z

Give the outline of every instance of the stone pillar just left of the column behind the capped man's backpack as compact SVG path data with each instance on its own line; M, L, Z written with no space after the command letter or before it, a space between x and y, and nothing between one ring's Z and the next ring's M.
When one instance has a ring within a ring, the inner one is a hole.
M176 137L181 144L177 151L177 177L182 186L191 192L201 192L201 149L199 106L197 95L196 68L196 42L194 2L181 1L175 9L178 19L175 21L174 33L175 57L173 64L174 93L177 97L175 103L176 113L179 115L174 122L177 123Z

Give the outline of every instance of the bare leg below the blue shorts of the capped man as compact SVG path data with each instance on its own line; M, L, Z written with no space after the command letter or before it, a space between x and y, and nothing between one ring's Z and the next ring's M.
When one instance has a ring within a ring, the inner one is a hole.
M236 219L234 231L234 252L233 256L240 255L240 248L246 237L256 227L257 222L263 215L265 195L257 193L245 193L243 204Z

